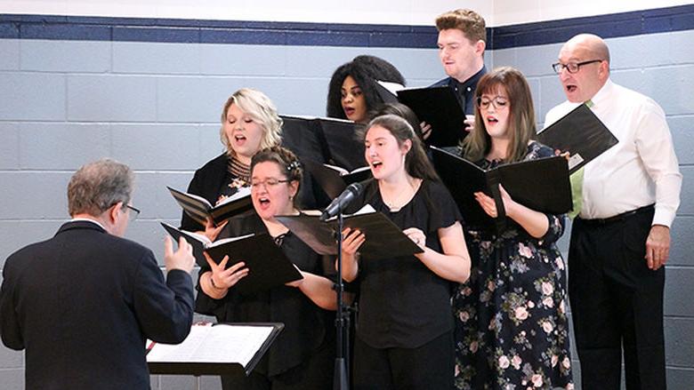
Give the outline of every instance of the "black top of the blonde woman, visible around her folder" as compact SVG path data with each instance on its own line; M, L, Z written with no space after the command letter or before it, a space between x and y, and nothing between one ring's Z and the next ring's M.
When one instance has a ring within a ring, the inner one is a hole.
M217 203L220 195L230 195L230 184L238 177L228 170L229 158L229 155L222 153L195 171L186 192L202 196L213 205ZM205 230L204 226L190 218L185 211L182 212L181 228L190 232Z

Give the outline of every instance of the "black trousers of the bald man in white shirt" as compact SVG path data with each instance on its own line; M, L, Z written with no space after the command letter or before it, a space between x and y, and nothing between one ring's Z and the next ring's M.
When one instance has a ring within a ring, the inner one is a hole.
M625 218L575 219L569 247L569 300L585 389L666 388L665 267L647 267L653 208Z

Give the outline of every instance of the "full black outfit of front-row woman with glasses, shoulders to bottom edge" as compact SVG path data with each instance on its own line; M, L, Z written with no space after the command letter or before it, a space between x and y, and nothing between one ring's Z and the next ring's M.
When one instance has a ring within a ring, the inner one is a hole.
M268 233L255 213L230 219L220 237L249 233ZM335 277L332 260L320 257L291 232L278 237L276 241L286 257L303 271L327 275L331 279ZM209 268L202 267L200 275L206 271ZM335 312L316 306L299 289L280 286L270 291L245 295L232 287L224 298L214 299L199 288L198 281L196 311L214 315L219 322L285 324L284 330L279 333L251 376L223 377L224 389L322 390L332 386Z

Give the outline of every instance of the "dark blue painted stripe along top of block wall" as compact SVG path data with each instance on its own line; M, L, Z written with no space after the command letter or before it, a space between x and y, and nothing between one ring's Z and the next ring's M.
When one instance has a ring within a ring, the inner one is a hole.
M488 28L488 49L694 29L694 4ZM433 26L0 14L0 38L185 44L436 47Z

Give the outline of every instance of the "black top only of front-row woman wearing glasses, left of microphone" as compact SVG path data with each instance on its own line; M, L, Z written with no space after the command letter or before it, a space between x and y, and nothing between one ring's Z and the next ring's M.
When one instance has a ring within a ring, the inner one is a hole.
M249 233L268 233L255 213L230 219L220 238ZM303 271L335 277L332 260L316 254L291 232L278 237L276 242L286 257ZM202 267L199 275L209 270ZM196 311L214 315L219 322L284 322L284 330L255 368L269 377L299 365L325 343L332 344L335 334L335 313L316 306L295 287L281 286L249 295L232 287L224 298L213 299L199 288L198 281Z

